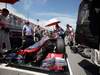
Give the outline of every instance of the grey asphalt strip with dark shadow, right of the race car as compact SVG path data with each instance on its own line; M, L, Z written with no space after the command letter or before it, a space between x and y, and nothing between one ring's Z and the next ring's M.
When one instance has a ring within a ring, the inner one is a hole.
M100 75L99 69L91 63L90 59L74 53L69 46L66 46L66 53L68 54L71 75Z

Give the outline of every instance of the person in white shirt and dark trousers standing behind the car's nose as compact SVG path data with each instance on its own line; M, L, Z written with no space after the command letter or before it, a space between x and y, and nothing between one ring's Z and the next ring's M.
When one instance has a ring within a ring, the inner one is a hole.
M34 44L33 29L29 22L26 22L22 29L22 45L23 49Z

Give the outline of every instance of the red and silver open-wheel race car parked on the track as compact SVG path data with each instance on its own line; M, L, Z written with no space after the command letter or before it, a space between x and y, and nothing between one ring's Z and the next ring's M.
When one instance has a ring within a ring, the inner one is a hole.
M69 73L66 59L63 39L50 36L44 36L40 41L24 50L8 51L5 56L5 61L10 66Z

